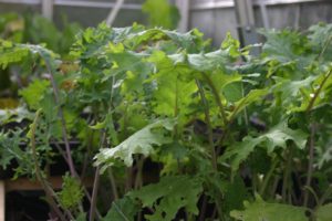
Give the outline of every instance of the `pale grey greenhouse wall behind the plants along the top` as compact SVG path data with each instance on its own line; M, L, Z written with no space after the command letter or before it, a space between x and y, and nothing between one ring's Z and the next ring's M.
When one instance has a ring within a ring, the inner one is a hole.
M27 0L25 2L38 1ZM101 8L98 4L95 4L95 7L72 7L65 6L65 0L54 2L53 20L55 23L61 23L64 14L69 21L80 22L84 27L96 25L107 17L111 10L111 7ZM71 0L71 2L75 1ZM91 3L92 1L80 0L80 2ZM114 3L115 0L98 2L104 4ZM114 25L125 27L133 24L133 22L146 23L146 17L139 9L143 2L144 0L126 0L125 4L136 6L138 8L122 9ZM258 6L258 2L259 1L253 0L255 22L256 27L263 28L262 10ZM294 29L305 29L317 22L332 22L332 1L264 0L263 2L266 2L266 23L268 23L269 28L282 29L290 27ZM8 3L8 1L7 3L1 3L0 0L0 13L8 11L18 11L20 13L27 11L40 12L41 7L37 3ZM206 38L212 39L215 45L218 45L222 41L228 31L234 36L238 36L235 7L230 0L190 0L188 25L189 29L198 28L205 33Z

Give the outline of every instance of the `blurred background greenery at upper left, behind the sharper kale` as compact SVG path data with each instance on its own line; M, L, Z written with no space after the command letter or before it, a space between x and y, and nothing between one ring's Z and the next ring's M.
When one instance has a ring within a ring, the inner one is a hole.
M65 60L81 27L76 23L69 23L65 17L60 25L61 30L49 19L39 14L3 13L0 15L0 38L15 43L43 43ZM1 108L18 105L18 88L27 86L29 78L33 76L31 73L34 72L34 67L28 65L21 70L12 66L0 70Z

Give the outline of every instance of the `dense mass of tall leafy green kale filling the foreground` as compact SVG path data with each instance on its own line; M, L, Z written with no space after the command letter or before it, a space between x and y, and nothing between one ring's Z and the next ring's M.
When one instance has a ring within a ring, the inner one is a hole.
M211 51L197 30L102 23L65 61L1 40L2 67L38 66L0 116L1 166L38 179L60 220L332 220L332 25L261 33Z

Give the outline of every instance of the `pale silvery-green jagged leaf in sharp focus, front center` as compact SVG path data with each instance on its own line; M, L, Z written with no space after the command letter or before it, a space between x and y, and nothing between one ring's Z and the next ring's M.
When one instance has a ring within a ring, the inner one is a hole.
M114 160L123 160L127 167L133 165L133 155L142 154L149 156L154 152L153 146L160 146L172 143L172 139L165 136L165 129L172 130L174 122L168 119L157 120L136 131L126 140L114 148L104 148L100 150L94 159L95 165L104 165L103 170L114 164Z

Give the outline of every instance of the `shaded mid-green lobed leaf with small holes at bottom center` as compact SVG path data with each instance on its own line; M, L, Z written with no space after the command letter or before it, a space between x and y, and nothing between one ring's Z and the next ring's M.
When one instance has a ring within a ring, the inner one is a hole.
M158 183L148 185L129 196L139 199L143 207L155 210L154 214L145 215L148 221L172 221L179 209L198 214L197 201L203 191L201 182L188 176L164 177Z

